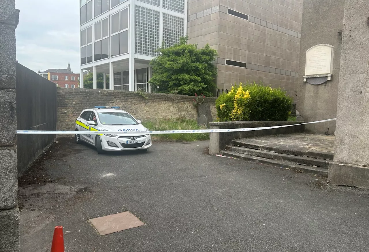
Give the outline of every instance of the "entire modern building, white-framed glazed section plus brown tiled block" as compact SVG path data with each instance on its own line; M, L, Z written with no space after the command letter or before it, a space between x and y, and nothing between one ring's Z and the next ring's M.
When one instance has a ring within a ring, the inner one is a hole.
M302 7L303 0L81 0L81 69L114 76L110 89L149 92L155 50L187 34L190 44L217 50L218 88L255 80L296 97Z

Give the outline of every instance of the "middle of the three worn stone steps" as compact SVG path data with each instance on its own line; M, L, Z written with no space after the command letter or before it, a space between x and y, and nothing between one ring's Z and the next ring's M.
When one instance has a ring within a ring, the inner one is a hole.
M317 158L307 158L302 156L294 156L294 155L287 155L281 153L275 153L270 151L260 151L256 149L248 149L245 147L239 147L234 145L227 145L227 151L231 152L239 152L242 154L246 154L249 156L257 156L260 158L268 158L273 159L276 161L283 161L283 162L291 162L296 163L297 165L308 165L308 166L317 166L317 167L328 167L328 160L324 159L317 159Z

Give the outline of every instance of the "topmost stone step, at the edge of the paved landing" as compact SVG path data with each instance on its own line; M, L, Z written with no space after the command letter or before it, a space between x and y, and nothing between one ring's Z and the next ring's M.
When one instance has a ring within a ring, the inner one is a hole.
M286 155L302 156L308 158L319 158L327 160L333 160L334 154L334 152L331 151L317 151L308 147L271 143L251 138L240 138L232 140L232 145L261 151L271 151Z

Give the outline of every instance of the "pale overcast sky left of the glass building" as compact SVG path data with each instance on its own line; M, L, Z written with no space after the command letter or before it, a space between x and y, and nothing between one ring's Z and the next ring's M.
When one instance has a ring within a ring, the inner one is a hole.
M20 10L17 60L34 71L79 73L79 0L15 0Z

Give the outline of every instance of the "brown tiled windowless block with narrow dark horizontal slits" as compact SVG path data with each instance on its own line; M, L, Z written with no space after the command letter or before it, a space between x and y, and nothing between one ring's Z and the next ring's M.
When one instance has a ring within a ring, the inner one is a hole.
M189 43L218 51L218 88L246 80L283 87L296 99L303 0L189 0ZM249 15L228 14L228 8ZM226 65L226 60L246 68Z

